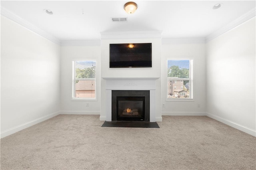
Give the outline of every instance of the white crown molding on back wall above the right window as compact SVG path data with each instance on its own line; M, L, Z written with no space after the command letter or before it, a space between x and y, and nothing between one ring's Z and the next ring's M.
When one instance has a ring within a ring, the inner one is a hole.
M205 43L205 38L162 38L162 44L171 43Z

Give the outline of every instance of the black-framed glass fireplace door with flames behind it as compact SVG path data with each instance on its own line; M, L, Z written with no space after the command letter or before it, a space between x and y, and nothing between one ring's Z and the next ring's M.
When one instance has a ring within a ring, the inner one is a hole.
M144 121L145 97L116 97L117 121Z

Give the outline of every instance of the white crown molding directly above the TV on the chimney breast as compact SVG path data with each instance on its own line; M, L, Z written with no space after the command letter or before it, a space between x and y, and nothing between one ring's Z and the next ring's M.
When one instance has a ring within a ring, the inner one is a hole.
M162 38L162 31L100 32L101 39Z

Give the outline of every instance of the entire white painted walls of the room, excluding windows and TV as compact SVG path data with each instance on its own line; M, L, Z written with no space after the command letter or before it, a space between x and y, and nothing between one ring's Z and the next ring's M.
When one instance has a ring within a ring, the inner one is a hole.
M109 68L109 43L143 42L152 42L152 68ZM102 77L160 77L156 117L208 115L256 136L255 45L255 17L206 44L117 38L103 39L101 45L60 47L1 16L1 137L59 113L100 114L104 119ZM194 59L192 101L166 100L169 57ZM72 101L72 61L77 59L97 61L96 101Z

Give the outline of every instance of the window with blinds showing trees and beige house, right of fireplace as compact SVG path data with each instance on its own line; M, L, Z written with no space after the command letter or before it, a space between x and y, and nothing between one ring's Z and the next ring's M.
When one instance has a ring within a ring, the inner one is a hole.
M193 99L192 59L167 60L167 86L167 99Z

